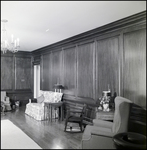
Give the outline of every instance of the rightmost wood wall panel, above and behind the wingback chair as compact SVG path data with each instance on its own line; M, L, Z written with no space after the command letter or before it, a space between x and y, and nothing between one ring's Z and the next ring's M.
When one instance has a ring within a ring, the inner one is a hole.
M124 34L123 94L146 106L146 29Z

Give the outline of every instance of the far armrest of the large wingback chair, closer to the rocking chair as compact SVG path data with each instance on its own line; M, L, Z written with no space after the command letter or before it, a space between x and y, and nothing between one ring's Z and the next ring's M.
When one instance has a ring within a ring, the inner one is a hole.
M112 129L113 122L100 120L100 119L93 119L93 125Z

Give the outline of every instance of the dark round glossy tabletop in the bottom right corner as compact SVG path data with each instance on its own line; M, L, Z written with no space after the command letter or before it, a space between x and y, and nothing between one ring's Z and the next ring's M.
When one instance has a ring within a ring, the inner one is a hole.
M118 133L113 141L117 149L146 149L146 136L139 133Z

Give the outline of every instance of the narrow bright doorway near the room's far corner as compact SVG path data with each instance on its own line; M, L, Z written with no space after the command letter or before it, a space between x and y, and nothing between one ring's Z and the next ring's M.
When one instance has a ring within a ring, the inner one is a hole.
M34 65L34 98L40 96L40 65Z

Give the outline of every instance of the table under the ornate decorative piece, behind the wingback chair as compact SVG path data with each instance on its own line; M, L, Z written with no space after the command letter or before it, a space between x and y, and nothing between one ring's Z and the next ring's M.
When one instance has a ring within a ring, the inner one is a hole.
M98 110L96 112L96 119L113 121L113 118L114 118L114 109L111 109L110 111Z

